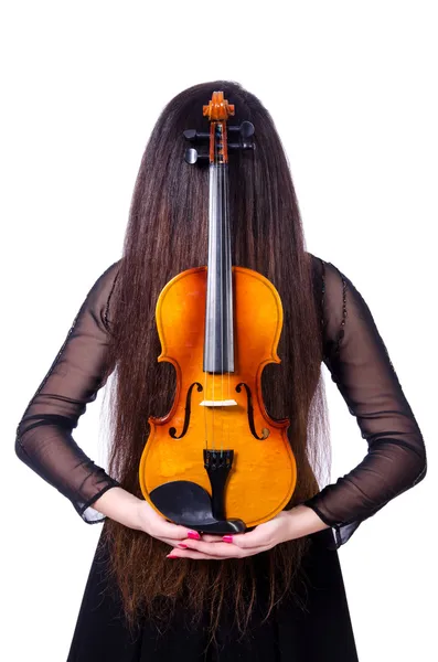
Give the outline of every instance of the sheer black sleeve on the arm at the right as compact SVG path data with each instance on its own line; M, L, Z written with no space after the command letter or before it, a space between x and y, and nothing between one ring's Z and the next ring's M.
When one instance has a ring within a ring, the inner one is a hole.
M360 523L426 474L423 435L365 300L313 256L321 286L323 362L367 442L364 459L305 502L332 527L335 548Z

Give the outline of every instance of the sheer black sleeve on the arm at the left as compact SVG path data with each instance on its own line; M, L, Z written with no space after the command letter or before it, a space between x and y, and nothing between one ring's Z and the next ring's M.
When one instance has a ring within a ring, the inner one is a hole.
M119 264L108 267L86 296L15 437L18 457L70 499L88 523L105 519L92 504L119 483L84 453L72 430L106 383L109 301Z

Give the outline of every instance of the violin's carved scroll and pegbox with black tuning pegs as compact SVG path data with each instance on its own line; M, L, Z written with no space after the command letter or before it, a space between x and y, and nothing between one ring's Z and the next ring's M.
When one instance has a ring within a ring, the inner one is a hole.
M203 116L211 122L210 132L196 131L196 129L183 131L184 138L191 142L209 141L209 151L199 151L194 147L188 148L184 152L186 163L193 166L196 162L209 161L217 166L228 162L228 149L255 149L254 125L245 120L239 126L227 126L227 119L232 115L234 115L234 104L228 104L228 100L224 99L223 92L213 92L209 105L203 106ZM228 131L236 135L237 141L228 142Z

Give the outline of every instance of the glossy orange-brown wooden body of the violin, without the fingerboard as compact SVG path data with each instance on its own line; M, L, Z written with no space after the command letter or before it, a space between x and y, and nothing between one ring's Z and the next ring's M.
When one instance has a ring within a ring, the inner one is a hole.
M174 366L177 391L171 410L161 418L149 418L139 479L145 499L158 512L162 510L151 493L165 483L196 484L212 496L214 481L206 471L203 449L216 453L214 458L232 449L231 467L217 495L223 502L222 516L238 519L249 527L285 508L296 485L297 469L287 437L289 420L269 417L261 396L265 365L280 363L279 295L267 278L252 269L233 266L232 280L233 372L207 374L203 366L207 268L179 274L160 293L156 320L162 351L158 361ZM169 499L178 501L178 490L169 492ZM184 521L189 519L195 526L190 514L185 515ZM199 530L205 530L202 523Z

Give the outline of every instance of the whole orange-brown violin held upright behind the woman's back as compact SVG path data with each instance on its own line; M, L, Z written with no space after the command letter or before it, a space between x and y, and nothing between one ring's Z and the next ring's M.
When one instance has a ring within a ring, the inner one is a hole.
M177 372L173 405L150 416L139 480L145 499L171 522L199 532L242 533L278 514L297 482L288 418L271 418L261 373L277 355L282 328L278 291L261 274L232 265L228 152L253 149L252 122L227 126L234 105L214 92L203 116L210 132L184 131L195 147L184 159L209 161L207 266L172 278L161 290L158 361ZM235 136L234 142L228 142Z

